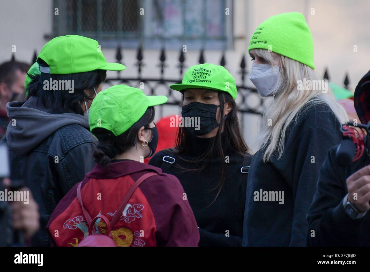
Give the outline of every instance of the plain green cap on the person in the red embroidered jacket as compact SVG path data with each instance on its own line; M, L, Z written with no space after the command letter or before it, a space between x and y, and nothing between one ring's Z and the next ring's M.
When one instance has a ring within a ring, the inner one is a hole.
M145 95L140 89L114 85L100 91L89 110L90 131L105 128L118 136L137 122L148 107L164 104L164 95Z

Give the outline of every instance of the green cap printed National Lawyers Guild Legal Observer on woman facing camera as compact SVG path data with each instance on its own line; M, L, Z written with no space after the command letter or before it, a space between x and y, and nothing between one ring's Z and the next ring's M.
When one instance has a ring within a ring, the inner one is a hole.
M211 89L229 93L236 98L235 79L225 67L212 63L191 66L185 73L182 83L169 86L172 90L182 91L189 88Z

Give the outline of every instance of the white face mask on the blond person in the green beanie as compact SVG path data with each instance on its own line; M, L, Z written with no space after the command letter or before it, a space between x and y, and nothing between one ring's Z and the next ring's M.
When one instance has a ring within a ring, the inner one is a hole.
M272 96L279 79L279 66L253 63L249 79L256 86L260 96Z

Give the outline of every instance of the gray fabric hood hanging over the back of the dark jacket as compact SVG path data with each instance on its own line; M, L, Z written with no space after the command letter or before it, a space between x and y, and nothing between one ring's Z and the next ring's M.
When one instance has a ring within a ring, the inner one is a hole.
M53 114L44 107L37 97L27 101L9 102L6 105L10 119L6 131L6 141L11 151L25 155L44 141L58 128L79 124L89 128L88 119L80 114Z

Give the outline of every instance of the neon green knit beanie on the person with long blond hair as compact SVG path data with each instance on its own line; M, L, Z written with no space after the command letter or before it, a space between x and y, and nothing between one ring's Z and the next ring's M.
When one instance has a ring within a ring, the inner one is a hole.
M264 21L250 38L248 52L255 48L270 50L315 69L312 35L302 13L282 13Z

